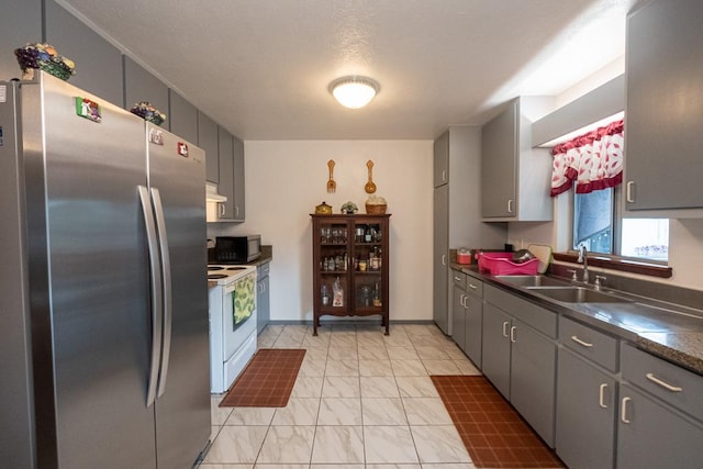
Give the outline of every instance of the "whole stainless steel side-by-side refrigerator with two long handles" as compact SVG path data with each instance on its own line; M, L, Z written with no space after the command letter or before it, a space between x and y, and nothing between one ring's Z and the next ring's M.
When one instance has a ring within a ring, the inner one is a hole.
M190 468L210 439L204 153L0 82L0 460Z

